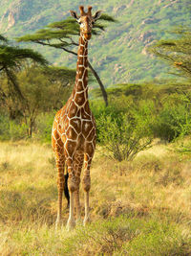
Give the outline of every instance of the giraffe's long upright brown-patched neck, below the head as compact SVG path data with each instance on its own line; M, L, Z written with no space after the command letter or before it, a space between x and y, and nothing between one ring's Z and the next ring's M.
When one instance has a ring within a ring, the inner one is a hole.
M84 105L88 101L88 41L79 37L77 51L76 77L73 90L76 105Z

